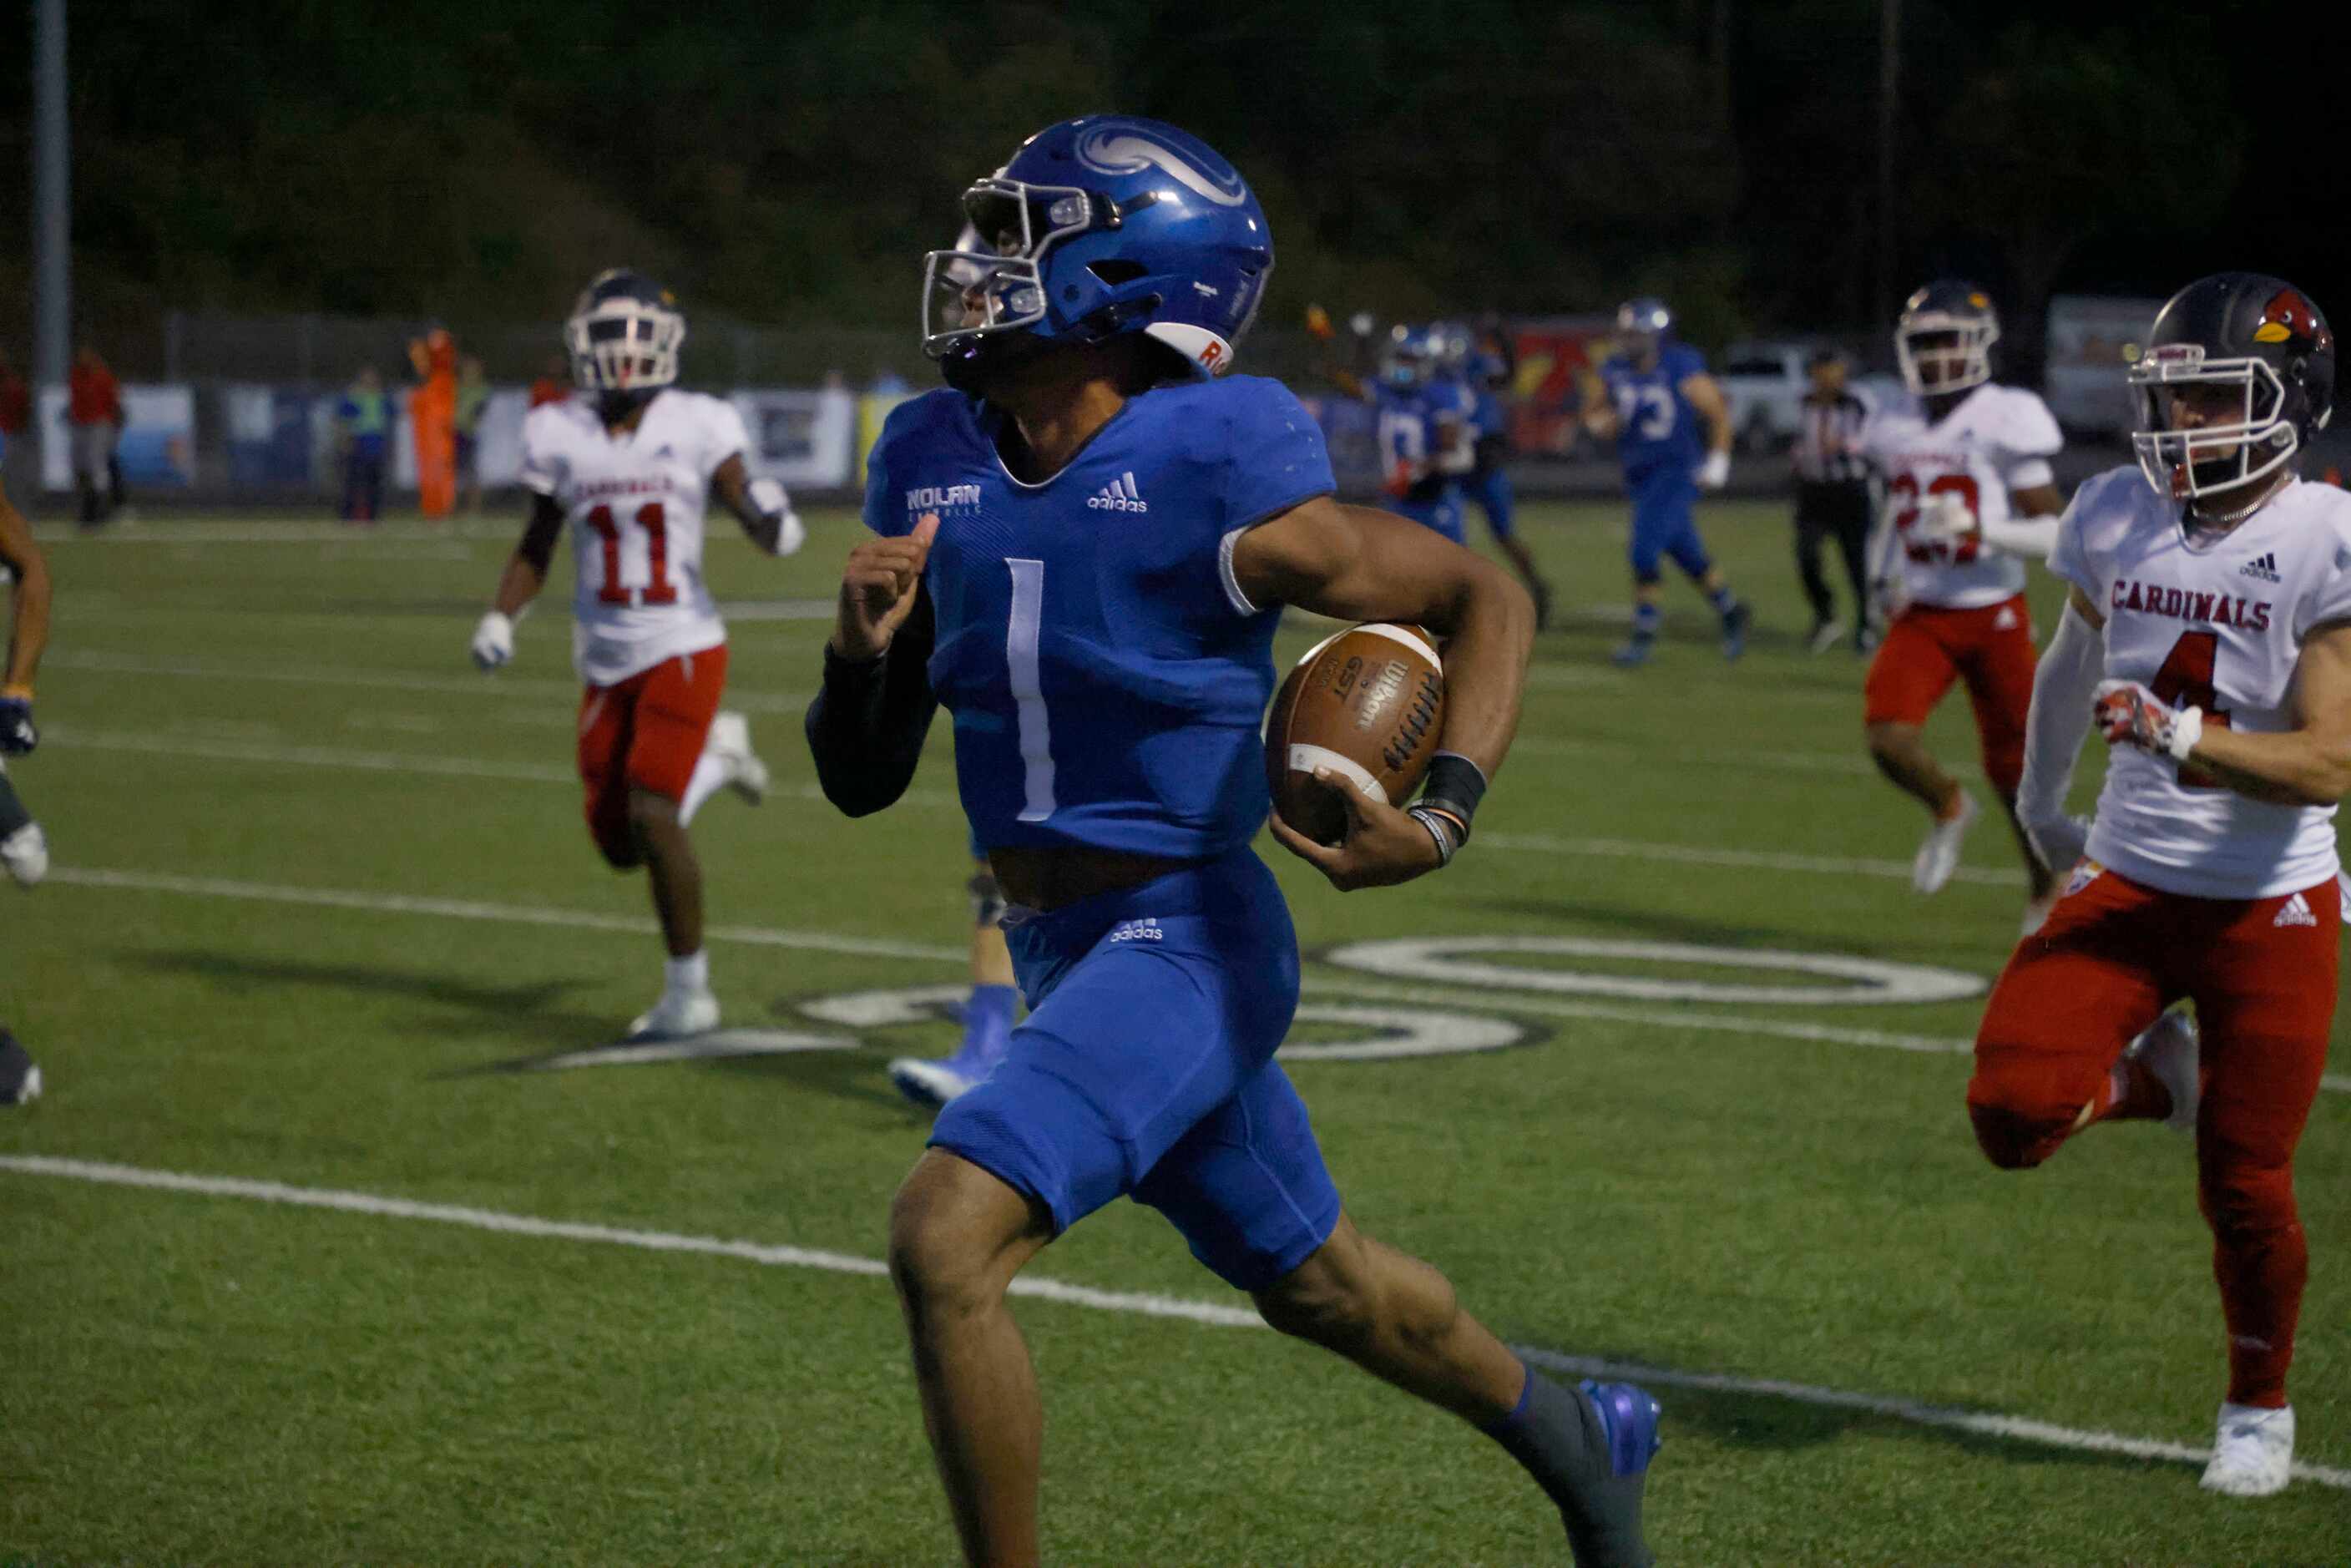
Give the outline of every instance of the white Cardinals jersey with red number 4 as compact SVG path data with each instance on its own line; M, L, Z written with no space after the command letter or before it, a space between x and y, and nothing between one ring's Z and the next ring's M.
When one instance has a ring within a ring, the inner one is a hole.
M2351 496L2292 480L2219 536L2189 536L2137 468L2081 487L2050 571L2106 616L2106 677L2205 724L2292 729L2311 628L2351 618ZM2118 745L2090 858L2163 893L2271 898L2337 872L2335 806L2278 806Z

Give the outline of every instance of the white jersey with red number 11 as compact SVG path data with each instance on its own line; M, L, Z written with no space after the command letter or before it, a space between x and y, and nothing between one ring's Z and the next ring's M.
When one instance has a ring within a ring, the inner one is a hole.
M748 447L734 404L663 390L609 433L585 397L531 409L522 484L564 508L576 590L571 656L590 686L726 642L703 583L710 475Z

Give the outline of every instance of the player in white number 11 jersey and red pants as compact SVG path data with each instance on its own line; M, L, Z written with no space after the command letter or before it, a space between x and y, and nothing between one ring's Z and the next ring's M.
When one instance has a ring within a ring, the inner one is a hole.
M677 301L637 273L602 273L581 294L564 327L581 390L531 409L522 425L531 522L473 637L484 670L513 658L515 618L571 524L588 832L616 870L647 867L670 954L661 999L630 1039L717 1027L703 872L686 825L719 785L752 802L766 790L743 715L719 712L726 625L703 583L703 512L717 498L771 555L804 538L783 487L748 477L750 442L734 404L677 390L684 336Z

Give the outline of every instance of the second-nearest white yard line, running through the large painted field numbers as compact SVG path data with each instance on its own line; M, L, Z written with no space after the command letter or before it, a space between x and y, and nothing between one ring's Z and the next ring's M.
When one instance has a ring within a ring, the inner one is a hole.
M134 893L176 893L188 898L226 898L237 903L289 903L331 910L357 910L367 914L428 914L440 919L484 919L513 926L569 926L583 931L625 931L651 936L654 919L642 914L600 914L595 910L562 910L548 905L487 903L473 898L421 898L409 893L367 893L357 889L303 889L268 882L235 882L226 877L179 877L172 872L94 870L78 865L49 867L49 882L59 886L118 889ZM844 952L853 957L893 957L929 964L969 964L966 947L926 947L922 943L893 943L858 936L828 936L811 931L776 931L769 926L710 926L715 943L741 943L748 947L804 947L816 952ZM1302 990L1317 997L1349 1001L1396 1001L1406 1006L1458 1006L1465 1011L1505 1013L1523 1018L1587 1018L1594 1023L1629 1023L1648 1030L1693 1030L1702 1034L1763 1034L1770 1039L1801 1039L1827 1046L1860 1046L1874 1051L1911 1051L1921 1056L1958 1056L1975 1048L1970 1039L1942 1034L1897 1034L1888 1030L1857 1030L1848 1025L1801 1023L1789 1018L1749 1018L1735 1013L1688 1013L1681 1009L1617 1006L1610 1001L1568 1001L1559 997L1498 997L1486 990L1460 990L1444 985L1404 987L1359 978L1307 976ZM2335 1093L2351 1093L2351 1074L2323 1079Z

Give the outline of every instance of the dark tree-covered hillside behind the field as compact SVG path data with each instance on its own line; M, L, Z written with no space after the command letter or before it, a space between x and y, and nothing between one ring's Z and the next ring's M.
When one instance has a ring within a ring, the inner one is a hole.
M2052 289L2168 292L2259 207L2241 80L2266 45L2189 7L2154 31L2095 12L1902 7L1900 282L1984 277L2027 355ZM1641 289L1721 341L1886 308L1881 0L110 0L73 24L78 306L101 331L169 308L545 320L628 261L715 317L912 336L959 190L1096 108L1241 165L1274 313ZM26 212L12 99L0 202ZM26 280L0 252L0 296Z

